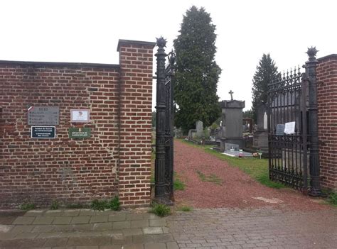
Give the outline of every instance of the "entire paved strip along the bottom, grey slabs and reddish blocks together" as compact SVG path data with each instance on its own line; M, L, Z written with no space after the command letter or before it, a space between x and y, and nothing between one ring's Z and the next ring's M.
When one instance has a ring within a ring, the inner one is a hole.
M337 248L337 209L196 209L159 218L146 209L0 214L0 248Z

